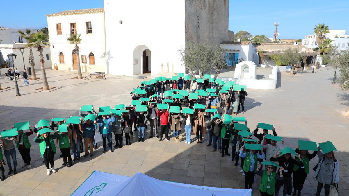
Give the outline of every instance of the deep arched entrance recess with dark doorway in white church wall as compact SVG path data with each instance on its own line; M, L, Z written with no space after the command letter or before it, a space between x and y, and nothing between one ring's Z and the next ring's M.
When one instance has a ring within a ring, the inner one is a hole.
M139 45L133 50L133 75L151 73L151 51L145 45Z

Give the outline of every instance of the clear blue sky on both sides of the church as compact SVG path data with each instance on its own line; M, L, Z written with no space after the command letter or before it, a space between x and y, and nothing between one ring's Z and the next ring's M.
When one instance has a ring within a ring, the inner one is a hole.
M103 0L3 1L0 26L41 29L47 27L46 14L64 10L102 8ZM20 6L19 9L18 6ZM10 8L13 9L5 9ZM274 22L279 22L279 38L302 39L312 34L314 25L325 23L329 29L344 29L349 34L348 0L230 0L229 30L273 37ZM11 16L11 17L8 17Z

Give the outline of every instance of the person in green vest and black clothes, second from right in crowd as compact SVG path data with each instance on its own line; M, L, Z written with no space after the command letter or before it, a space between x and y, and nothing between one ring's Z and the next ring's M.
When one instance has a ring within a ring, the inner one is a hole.
M313 151L313 153L309 153L307 150L299 150L299 145L296 148L296 153L300 154L300 158L302 159L303 162L303 167L299 167L295 165L293 169L293 185L292 187L294 188L294 192L292 196L296 195L296 192L298 191L298 196L300 196L300 191L303 189L303 184L305 182L305 179L307 175L309 174L309 164L310 160L314 158L317 154L318 151ZM298 161L298 159L296 159Z

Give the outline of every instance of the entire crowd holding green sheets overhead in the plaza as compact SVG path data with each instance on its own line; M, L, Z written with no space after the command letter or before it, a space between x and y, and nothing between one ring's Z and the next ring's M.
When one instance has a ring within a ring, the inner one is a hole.
M84 157L92 157L93 151L98 148L98 141L103 141L103 153L108 150L113 152L112 133L115 137L114 149L122 148L124 137L125 145L131 145L131 135L134 134L138 136L138 140L134 142L144 142L147 128L150 131L149 138L157 137L159 142L163 142L169 141L172 135L175 141L180 142L181 135L185 135L184 143L188 145L192 142L202 143L203 135L207 134L207 146L212 145L213 152L218 150L222 157L231 156L235 166L240 161L239 172L245 176L246 189L252 188L255 174L261 176L261 195L277 196L281 187L282 195L291 195L292 192L294 196L301 195L311 169L310 160L317 155L318 165L313 168L313 179L318 181L316 194L320 195L324 187L327 196L330 188L339 182L339 163L333 153L336 151L333 144L323 142L317 146L314 142L300 141L296 149L291 149L282 137L277 136L274 126L265 123L259 123L251 133L247 120L236 117L240 108L244 112L247 96L245 88L207 75L197 79L190 76L156 77L143 81L131 92L132 102L129 105L119 104L113 109L109 106L99 107L98 113L92 105L85 105L80 108L79 116L55 118L51 119L51 123L40 120L34 130L29 126L29 132L18 129L17 135L2 137L0 152L1 149L4 150L9 167L8 175L12 172L16 174L15 148L18 148L23 158L22 167L29 169L31 144L28 136L36 133L33 142L39 143L40 156L50 175L51 172L56 172L53 159L56 146L61 151L62 165L71 167L74 162L80 161L83 152ZM220 113L217 110L218 103ZM258 133L259 129L262 129L262 133ZM181 134L183 130L184 133ZM272 134L269 134L269 130ZM192 138L192 134L195 138ZM312 153L309 152L311 150ZM0 153L2 181L5 180L4 165Z

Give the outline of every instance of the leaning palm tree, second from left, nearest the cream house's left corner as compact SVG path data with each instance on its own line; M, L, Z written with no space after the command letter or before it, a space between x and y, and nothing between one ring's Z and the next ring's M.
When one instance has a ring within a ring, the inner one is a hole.
M41 66L41 73L43 78L43 90L49 90L49 83L47 82L46 78L46 71L45 71L45 64L44 64L44 56L43 56L43 47L42 44L45 46L48 46L45 42L47 39L47 36L43 34L42 31L39 31L37 33L33 33L31 37L29 37L29 41L32 44L32 46L36 47L36 50L39 52L39 58L40 58L40 66Z

